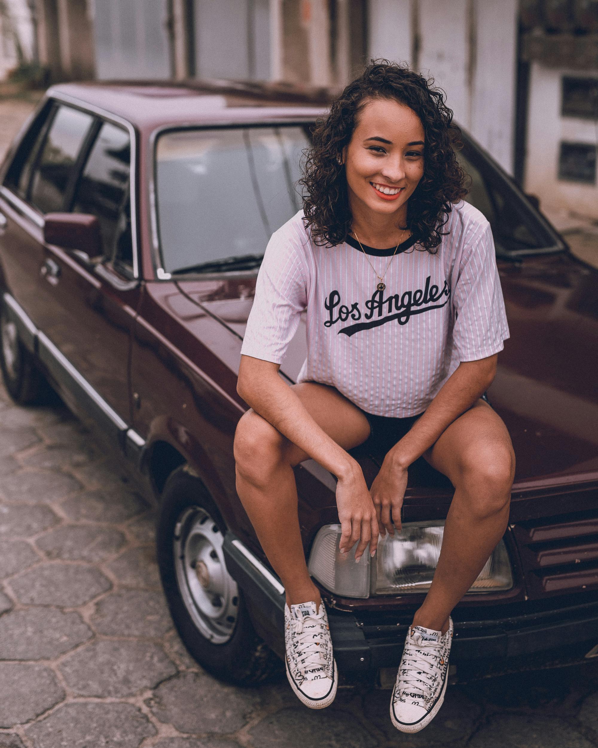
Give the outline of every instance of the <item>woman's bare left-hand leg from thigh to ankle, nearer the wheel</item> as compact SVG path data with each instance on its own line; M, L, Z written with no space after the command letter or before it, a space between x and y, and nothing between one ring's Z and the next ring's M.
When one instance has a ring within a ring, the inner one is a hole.
M366 417L333 387L304 382L293 389L318 426L341 447L351 449L366 441ZM292 469L308 457L253 410L241 417L235 434L238 496L286 589L288 604L311 600L319 606L320 594L309 577L301 542Z

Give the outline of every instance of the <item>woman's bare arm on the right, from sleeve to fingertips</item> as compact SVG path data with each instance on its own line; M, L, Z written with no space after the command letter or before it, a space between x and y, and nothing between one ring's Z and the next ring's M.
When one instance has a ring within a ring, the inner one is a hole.
M462 361L409 432L386 454L371 488L380 531L401 527L407 468L431 447L445 429L484 393L496 374L498 354Z

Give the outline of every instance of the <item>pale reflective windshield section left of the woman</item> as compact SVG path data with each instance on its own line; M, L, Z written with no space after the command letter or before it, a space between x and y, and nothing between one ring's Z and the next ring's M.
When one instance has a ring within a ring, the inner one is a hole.
M303 126L167 132L156 147L164 270L259 266L271 234L300 209Z

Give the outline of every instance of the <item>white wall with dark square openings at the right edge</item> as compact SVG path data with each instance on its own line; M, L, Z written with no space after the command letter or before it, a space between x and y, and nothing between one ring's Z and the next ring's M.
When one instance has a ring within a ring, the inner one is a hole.
M598 186L558 179L561 141L597 145L598 127L591 120L561 117L561 78L588 75L576 70L531 66L525 191L537 194L544 212L569 210L598 218Z

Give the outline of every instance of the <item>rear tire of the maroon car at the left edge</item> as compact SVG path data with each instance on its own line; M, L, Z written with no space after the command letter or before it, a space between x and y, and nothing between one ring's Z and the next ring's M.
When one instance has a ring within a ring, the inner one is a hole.
M41 405L49 399L51 387L23 345L5 304L0 308L0 368L4 386L17 405Z

